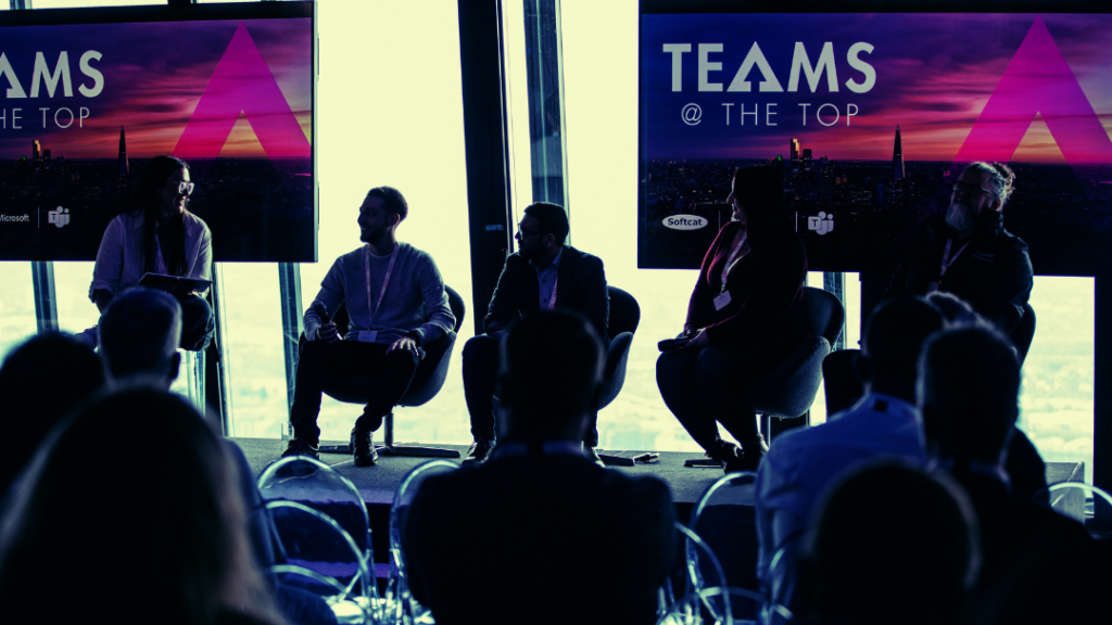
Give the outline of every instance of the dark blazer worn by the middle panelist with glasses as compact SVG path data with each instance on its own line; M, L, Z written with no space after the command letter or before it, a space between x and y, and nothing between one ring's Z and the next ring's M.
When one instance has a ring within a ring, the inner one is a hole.
M556 308L582 312L595 326L603 345L608 345L607 325L610 299L606 295L606 274L597 256L564 246L556 275ZM540 287L537 271L519 254L506 258L506 267L490 298L483 327L487 336L502 338L509 324L540 309Z

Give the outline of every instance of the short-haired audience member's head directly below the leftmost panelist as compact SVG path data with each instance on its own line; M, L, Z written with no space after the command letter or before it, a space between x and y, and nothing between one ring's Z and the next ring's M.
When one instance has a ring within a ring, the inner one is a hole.
M178 377L181 305L157 289L131 289L105 310L97 340L111 379L141 376L169 388Z

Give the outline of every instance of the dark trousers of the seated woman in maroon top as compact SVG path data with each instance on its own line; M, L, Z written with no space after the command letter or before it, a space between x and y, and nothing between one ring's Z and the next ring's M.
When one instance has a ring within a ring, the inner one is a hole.
M756 443L757 420L733 356L716 347L665 351L656 384L672 414L704 449L714 448L718 424L743 447Z

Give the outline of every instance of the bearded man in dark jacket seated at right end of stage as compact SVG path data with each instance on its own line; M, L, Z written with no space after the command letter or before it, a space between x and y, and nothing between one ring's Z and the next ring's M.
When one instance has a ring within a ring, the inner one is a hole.
M954 182L945 217L923 220L886 297L954 294L1005 335L1023 317L1033 270L1027 244L1004 229L1015 175L999 162L974 162Z

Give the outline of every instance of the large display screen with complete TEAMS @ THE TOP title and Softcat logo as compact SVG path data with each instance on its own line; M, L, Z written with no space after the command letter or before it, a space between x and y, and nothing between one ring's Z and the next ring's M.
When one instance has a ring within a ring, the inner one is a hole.
M811 269L891 270L962 167L1015 171L1036 274L1112 231L1112 16L641 16L638 266L695 268L735 168L780 171Z

